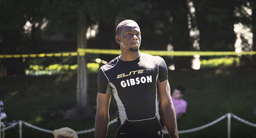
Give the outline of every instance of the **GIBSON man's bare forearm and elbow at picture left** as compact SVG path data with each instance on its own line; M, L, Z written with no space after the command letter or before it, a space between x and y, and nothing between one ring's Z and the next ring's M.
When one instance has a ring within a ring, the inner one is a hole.
M105 138L108 132L109 104L111 94L97 94L97 112L95 117L95 138Z

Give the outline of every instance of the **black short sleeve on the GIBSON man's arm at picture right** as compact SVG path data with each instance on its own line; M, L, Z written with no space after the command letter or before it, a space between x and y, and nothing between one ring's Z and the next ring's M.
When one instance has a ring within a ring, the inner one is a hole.
M168 69L165 60L162 57L158 57L158 72L159 82L163 82L168 79Z

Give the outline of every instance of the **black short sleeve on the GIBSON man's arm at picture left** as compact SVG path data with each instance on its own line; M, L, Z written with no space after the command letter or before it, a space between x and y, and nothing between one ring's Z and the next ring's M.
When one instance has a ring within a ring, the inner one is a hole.
M98 92L106 94L107 92L108 79L104 75L103 71L99 69L98 72Z

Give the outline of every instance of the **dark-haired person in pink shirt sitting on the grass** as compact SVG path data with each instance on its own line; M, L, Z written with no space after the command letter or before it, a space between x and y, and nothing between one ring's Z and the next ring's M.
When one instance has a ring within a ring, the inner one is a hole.
M184 113L187 112L187 102L182 99L184 93L185 88L183 86L177 86L171 95L177 119L179 119Z

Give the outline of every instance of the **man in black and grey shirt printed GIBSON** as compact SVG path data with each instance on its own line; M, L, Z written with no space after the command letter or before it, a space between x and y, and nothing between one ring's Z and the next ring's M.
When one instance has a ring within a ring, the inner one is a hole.
M169 135L178 137L165 61L139 52L140 27L133 20L118 24L115 39L121 55L98 74L95 137L106 137L111 94L118 106L116 138L162 138L159 108Z

